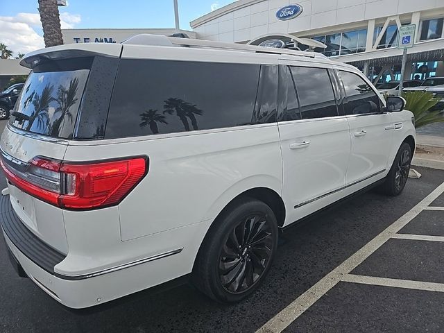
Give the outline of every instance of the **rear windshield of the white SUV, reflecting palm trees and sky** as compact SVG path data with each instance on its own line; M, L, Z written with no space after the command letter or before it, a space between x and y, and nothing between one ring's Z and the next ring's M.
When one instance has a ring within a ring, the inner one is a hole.
M31 71L10 124L27 132L71 139L92 59L46 62Z

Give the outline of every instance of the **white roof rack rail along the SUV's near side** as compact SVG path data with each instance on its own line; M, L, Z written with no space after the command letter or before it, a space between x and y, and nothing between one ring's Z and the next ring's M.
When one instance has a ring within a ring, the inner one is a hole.
M321 53L297 51L290 49L278 49L267 46L256 46L250 44L237 44L227 42L214 42L211 40L195 40L191 38L170 37L164 35L140 34L128 38L122 44L136 45L162 45L162 46L187 46L187 47L204 47L214 49L226 49L235 51L250 51L257 53L273 53L284 54L289 56L303 56L309 58L327 58Z

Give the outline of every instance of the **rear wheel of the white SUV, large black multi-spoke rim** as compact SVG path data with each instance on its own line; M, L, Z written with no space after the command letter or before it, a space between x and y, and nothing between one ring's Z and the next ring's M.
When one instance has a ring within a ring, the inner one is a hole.
M239 302L259 288L278 248L278 222L253 198L231 203L214 221L193 269L197 289L218 302Z

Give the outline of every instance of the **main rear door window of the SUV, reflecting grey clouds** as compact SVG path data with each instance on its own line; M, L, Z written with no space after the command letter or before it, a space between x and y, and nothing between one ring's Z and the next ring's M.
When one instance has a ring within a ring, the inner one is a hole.
M338 115L332 82L327 69L291 67L298 91L302 119Z

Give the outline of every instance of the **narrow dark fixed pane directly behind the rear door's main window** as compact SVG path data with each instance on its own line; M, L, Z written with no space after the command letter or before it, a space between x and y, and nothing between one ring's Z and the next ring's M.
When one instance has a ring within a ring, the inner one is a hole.
M283 121L300 119L298 96L288 66L279 67L279 103Z

